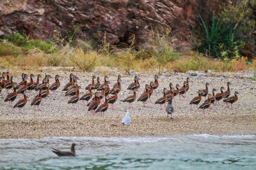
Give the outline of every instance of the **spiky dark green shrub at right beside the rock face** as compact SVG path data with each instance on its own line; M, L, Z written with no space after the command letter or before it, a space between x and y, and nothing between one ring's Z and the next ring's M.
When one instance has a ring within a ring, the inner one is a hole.
M207 24L201 15L198 15L200 28L198 31L193 29L197 41L195 49L219 59L239 57L245 41L245 38L239 36L240 25L237 23L224 25L222 20L216 20L214 12L211 24Z

